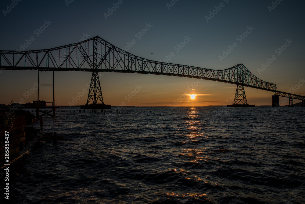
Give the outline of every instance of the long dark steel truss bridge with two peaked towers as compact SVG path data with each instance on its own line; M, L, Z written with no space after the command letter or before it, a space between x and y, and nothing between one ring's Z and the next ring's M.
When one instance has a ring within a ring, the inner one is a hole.
M233 105L247 105L244 86L272 91L275 96L273 96L272 106L278 106L278 96L288 97L289 106L292 106L292 99L302 100L302 105L305 104L305 96L278 91L274 83L260 80L243 64L224 70L215 70L153 61L128 53L99 36L44 50L1 50L0 69L37 70L38 73L53 71L53 84L51 84L53 85L53 106L55 105L54 71L92 72L87 104L104 104L98 72L158 74L232 83L237 85Z

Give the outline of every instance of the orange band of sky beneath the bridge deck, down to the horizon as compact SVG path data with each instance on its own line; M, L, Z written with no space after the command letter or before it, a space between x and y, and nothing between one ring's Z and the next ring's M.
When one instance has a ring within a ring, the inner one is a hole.
M18 74L16 75L16 72ZM27 72L30 77L23 77ZM34 71L12 71L6 73L12 87L2 88L2 101L6 105L13 102L27 103L37 100L35 83L37 76ZM188 87L194 84L194 79L174 78L172 76L137 75L132 73L103 73L102 94L104 102L111 106L226 106L234 102L236 86L204 80L196 89ZM50 84L49 76L41 77L41 83ZM1 73L2 76L2 73ZM43 76L43 75L42 75ZM55 75L55 104L58 106L80 106L87 102L90 73L88 72L56 72ZM159 77L159 78L158 78ZM164 78L164 79L163 79ZM122 79L122 80L117 80ZM170 82L168 82L170 80ZM137 83L135 83L137 82ZM4 86L4 81L1 81ZM18 84L22 83L22 87ZM141 90L136 90L140 86ZM278 89L285 90L288 85L282 85ZM142 88L143 87L143 88ZM166 87L166 88L164 88ZM303 87L303 86L302 86ZM248 103L251 105L271 105L272 92L245 87ZM303 89L299 89L299 95L305 95ZM195 98L192 99L192 95ZM189 97L188 97L189 96ZM284 99L284 98L283 98ZM51 86L39 87L39 100L53 101ZM1 103L0 102L0 103ZM283 105L289 100L283 101ZM299 100L294 100L300 102Z

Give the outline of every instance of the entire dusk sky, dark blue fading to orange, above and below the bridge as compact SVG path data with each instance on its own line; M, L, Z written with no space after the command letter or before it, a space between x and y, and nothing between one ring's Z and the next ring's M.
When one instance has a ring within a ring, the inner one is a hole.
M128 52L139 57L164 61L174 52L170 63L219 70L242 63L255 76L275 83L284 92L304 83L300 83L305 78L305 13L301 1L20 1L8 9L10 4L12 0L0 3L0 50L20 50L31 36L34 40L25 50L63 46L96 35L125 49L135 39ZM113 6L118 8L111 13ZM146 24L151 28L138 35ZM43 25L47 25L45 30L38 32ZM244 32L247 36L240 37ZM190 40L177 52L176 46L185 36ZM235 42L234 50L220 59ZM279 50L282 46L286 49ZM276 59L259 71L272 55ZM37 75L37 71L0 70L0 103L21 98L26 102L37 100L37 91L27 94ZM112 106L122 102L130 106L228 105L236 90L236 85L208 80L192 88L197 79L184 77L109 72L100 72L99 76L104 102ZM51 72L43 72L40 83L50 83L51 79ZM86 89L75 105L85 104L90 80L90 72L55 72L55 101L68 105ZM305 95L302 85L295 94ZM136 86L141 87L140 91L129 97ZM249 87L245 91L249 104L272 103L272 92ZM41 100L52 101L51 87L41 87L39 94ZM190 94L196 98L192 100Z

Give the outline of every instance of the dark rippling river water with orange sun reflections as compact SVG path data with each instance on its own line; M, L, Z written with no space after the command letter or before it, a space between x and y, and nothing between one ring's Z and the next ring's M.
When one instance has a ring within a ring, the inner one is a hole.
M44 118L66 140L11 165L9 203L305 203L303 107L78 110Z

